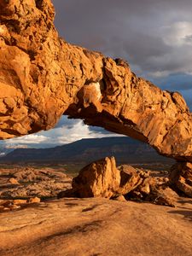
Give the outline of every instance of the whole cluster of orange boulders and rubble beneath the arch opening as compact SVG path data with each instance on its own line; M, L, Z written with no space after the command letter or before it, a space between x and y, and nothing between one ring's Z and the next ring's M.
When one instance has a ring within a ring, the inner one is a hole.
M62 197L104 197L118 201L150 201L174 207L177 194L169 188L167 177L152 177L149 172L132 166L119 166L113 157L106 157L85 166L73 178L73 189L60 192Z

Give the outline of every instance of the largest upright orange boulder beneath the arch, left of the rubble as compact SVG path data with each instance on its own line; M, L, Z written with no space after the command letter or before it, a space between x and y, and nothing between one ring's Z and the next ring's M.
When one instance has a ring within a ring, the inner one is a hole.
M105 197L116 195L119 190L120 172L113 157L106 157L85 166L73 178L73 191L78 197Z

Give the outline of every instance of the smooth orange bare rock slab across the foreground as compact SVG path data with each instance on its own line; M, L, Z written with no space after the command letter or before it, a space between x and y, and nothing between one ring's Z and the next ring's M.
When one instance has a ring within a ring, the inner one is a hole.
M3 256L191 256L192 204L62 199L0 213Z

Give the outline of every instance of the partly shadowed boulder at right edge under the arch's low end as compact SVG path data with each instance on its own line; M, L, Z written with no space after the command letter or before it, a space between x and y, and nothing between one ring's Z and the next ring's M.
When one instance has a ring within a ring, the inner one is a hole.
M192 164L180 162L172 166L170 173L172 185L185 195L192 197Z

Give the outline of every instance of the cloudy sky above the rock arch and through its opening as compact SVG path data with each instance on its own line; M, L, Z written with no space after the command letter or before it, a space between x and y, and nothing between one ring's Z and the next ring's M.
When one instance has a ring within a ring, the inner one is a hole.
M191 0L54 0L55 26L67 42L122 57L164 90L180 91L192 110ZM62 118L55 129L9 140L46 146L108 133Z

